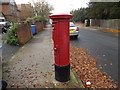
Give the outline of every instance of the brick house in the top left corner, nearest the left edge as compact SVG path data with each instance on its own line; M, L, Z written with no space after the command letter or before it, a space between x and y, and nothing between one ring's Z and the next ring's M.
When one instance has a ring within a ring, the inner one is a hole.
M8 21L19 20L18 7L14 0L0 0L1 12L0 15L5 17Z

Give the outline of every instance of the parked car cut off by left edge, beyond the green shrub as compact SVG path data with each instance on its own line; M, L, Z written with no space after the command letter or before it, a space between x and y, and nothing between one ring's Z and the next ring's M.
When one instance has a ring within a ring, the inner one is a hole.
M2 29L2 33L6 33L7 29L11 26L11 23L8 21L5 21L4 17L0 17L0 28ZM1 31L0 31L1 32Z

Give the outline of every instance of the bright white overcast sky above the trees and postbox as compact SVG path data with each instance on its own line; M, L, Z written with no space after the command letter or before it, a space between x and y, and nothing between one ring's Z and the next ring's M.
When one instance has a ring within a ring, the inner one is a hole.
M34 0L37 1L37 0ZM53 6L53 14L66 13L81 7L87 7L89 0L45 0ZM32 0L15 0L17 4L32 2Z

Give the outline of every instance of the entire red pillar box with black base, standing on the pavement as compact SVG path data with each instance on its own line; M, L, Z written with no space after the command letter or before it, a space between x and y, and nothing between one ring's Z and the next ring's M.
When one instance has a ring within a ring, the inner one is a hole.
M55 79L66 82L70 79L69 61L69 22L72 15L49 16L52 19L52 38L54 41Z

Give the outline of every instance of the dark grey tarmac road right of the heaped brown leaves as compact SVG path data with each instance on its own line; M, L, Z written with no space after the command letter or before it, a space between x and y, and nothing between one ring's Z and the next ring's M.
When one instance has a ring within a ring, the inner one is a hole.
M97 66L118 81L118 35L91 28L80 28L79 38L71 38L71 46L85 48L96 57Z

